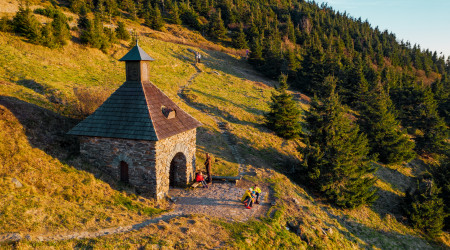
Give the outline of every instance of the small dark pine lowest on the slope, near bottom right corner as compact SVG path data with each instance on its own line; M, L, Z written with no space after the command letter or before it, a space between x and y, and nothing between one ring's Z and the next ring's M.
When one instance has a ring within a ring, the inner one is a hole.
M440 189L431 178L422 177L414 193L407 193L406 197L406 212L410 221L431 238L442 233L446 217L439 193Z

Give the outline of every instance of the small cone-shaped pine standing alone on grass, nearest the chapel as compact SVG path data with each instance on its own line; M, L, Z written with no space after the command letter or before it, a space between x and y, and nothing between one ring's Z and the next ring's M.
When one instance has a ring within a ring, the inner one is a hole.
M287 93L287 76L281 75L280 87L277 93L272 94L270 112L265 114L266 125L269 129L285 139L299 136L301 131L300 110L292 100L292 95Z

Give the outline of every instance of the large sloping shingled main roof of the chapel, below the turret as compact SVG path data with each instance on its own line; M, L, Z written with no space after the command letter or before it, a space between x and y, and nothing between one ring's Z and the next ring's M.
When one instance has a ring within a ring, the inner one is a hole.
M166 118L162 108L175 111ZM150 82L125 82L69 134L157 141L202 124Z

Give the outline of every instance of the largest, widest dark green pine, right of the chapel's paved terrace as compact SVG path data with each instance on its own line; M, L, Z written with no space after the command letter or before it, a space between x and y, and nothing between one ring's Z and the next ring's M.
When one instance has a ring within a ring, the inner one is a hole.
M306 115L303 166L316 189L336 205L355 208L372 203L375 171L368 158L368 141L341 106L335 88L328 98L312 102Z

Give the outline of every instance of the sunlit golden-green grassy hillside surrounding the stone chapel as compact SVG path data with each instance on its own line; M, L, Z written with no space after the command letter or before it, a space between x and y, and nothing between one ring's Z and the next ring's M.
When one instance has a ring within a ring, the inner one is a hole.
M256 167L257 176L248 181L270 185L276 205L267 218L250 223L180 217L126 234L57 243L22 241L19 248L433 247L395 211L395 202L420 172L420 164L380 166L381 198L373 207L341 210L327 205L285 175L265 169L290 169L301 158L300 141L283 140L263 126L274 82L255 74L239 57L207 50L222 48L198 34L176 26L168 33L132 27L147 34L139 43L156 59L149 69L152 82L204 124L198 130L198 167L202 167L203 153L210 152L216 159L215 174L237 173L237 162L217 126L217 121L225 122L245 163ZM202 45L194 49L204 55L199 66L203 72L185 91L186 103L178 91L196 73L187 51L192 48L189 44L196 43ZM93 230L160 212L151 201L85 165L76 153L76 140L65 135L77 122L69 117L77 116L83 102L74 89L93 89L108 96L124 81L124 64L117 60L129 50L126 44L107 54L72 42L51 50L0 32L0 48L0 234ZM299 106L307 108L300 102ZM23 187L16 188L13 178ZM444 234L447 244L448 238Z

